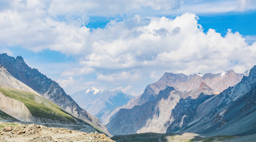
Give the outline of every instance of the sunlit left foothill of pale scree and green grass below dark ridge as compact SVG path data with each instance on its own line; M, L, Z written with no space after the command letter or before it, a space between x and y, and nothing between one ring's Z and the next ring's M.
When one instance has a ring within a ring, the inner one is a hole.
M87 124L44 99L3 66L0 66L0 110L2 120Z

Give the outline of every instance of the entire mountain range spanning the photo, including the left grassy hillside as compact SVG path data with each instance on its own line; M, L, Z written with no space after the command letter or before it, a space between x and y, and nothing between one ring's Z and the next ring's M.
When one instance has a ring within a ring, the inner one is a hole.
M0 120L81 125L109 136L190 132L214 137L256 134L255 116L256 66L245 73L164 73L135 98L94 87L70 96L21 56L0 54Z

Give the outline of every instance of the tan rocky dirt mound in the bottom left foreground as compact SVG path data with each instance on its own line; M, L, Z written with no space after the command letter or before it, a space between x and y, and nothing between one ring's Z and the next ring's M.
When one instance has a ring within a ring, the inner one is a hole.
M83 133L42 125L15 125L0 129L0 142L115 142L104 134Z

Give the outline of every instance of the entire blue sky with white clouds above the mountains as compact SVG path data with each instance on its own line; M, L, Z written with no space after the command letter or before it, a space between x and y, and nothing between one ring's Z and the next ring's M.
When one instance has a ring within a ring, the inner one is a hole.
M0 0L0 52L68 93L140 95L165 72L243 73L256 63L254 0Z

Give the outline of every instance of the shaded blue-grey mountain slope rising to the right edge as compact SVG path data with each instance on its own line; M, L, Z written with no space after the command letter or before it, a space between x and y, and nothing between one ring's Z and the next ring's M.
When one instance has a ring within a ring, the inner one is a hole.
M194 109L196 115L185 132L212 135L250 135L256 133L256 66L248 77L208 99ZM167 133L173 128L167 129Z

